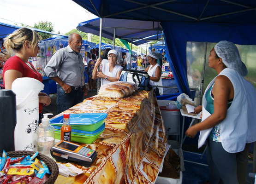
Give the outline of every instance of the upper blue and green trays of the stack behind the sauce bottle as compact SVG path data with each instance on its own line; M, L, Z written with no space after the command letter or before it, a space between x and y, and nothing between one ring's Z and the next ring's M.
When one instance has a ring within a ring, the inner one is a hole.
M70 114L69 122L72 129L94 132L100 128L107 117L106 113ZM63 115L50 120L50 125L61 127Z

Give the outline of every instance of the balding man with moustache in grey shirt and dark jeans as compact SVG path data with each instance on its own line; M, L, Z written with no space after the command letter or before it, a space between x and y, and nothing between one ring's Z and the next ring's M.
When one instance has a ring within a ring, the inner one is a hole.
M56 51L44 69L46 75L57 82L58 114L83 102L83 95L87 95L81 47L82 37L71 33L68 46Z

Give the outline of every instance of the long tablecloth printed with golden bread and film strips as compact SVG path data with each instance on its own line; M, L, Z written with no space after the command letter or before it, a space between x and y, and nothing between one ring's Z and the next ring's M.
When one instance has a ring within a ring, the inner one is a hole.
M105 131L95 142L79 143L96 150L98 155L92 166L86 168L71 162L85 173L67 178L59 175L55 184L155 183L167 137L153 90L134 92L121 99L96 95L65 112L108 115Z

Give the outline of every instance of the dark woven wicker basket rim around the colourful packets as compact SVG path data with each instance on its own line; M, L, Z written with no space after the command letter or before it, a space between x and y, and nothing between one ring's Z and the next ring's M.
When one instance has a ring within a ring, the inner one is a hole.
M21 157L23 155L34 155L36 152L34 151L9 151L6 152L7 156L10 157ZM0 155L2 155L2 153L0 153ZM55 163L55 161L53 159L50 159L48 156L43 155L41 153L38 153L38 155L36 156L37 159L42 160L49 168L50 172L52 173L48 180L45 182L45 184L54 184L55 180L57 179L58 175L59 175L59 167L57 166L57 164Z

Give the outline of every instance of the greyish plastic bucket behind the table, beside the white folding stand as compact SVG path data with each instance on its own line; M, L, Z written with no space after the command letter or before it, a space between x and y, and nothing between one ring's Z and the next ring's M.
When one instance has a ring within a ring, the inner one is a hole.
M179 126L179 109L169 110L166 109L166 106L160 106L160 111L162 119L165 124L165 130L167 133L176 133L178 132Z

